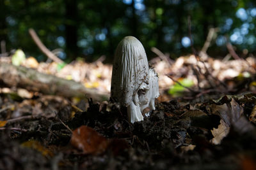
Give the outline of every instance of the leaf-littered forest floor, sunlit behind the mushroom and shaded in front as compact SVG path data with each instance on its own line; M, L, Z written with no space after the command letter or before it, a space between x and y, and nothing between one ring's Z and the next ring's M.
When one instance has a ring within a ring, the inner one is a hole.
M256 169L254 57L149 63L161 95L134 124L116 103L1 84L0 169ZM100 60L23 66L109 94L111 66Z

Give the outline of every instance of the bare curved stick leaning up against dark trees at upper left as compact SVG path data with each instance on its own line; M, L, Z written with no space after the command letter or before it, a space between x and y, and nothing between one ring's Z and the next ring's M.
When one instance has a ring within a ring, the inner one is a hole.
M50 59L54 60L54 62L57 63L63 63L63 60L59 59L56 55L54 55L50 50L48 50L48 48L46 48L46 46L42 43L42 41L38 38L38 36L36 35L36 32L34 29L29 29L29 34L30 36L33 38L33 40L35 41L36 45L38 46L38 48L40 48L40 50Z

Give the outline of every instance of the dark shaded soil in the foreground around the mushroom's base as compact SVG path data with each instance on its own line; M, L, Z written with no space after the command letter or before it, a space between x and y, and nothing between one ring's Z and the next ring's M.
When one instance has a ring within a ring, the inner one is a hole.
M243 127L253 128L241 131L231 124L220 145L211 143L211 130L217 129L221 120L221 114L209 110L213 101L156 103L150 117L134 124L127 122L125 109L115 104L89 101L88 110L77 112L73 118L71 106L65 106L56 117L7 124L0 135L0 169L255 169L255 125L248 121L255 100L245 98L234 97L243 107ZM230 100L214 104L225 103ZM201 112L185 114L191 110ZM81 125L111 139L104 152L85 154L70 144L72 132L67 126L74 130ZM34 141L33 145L28 141Z

